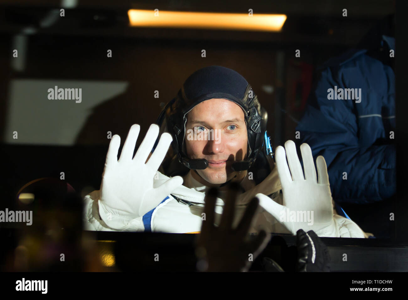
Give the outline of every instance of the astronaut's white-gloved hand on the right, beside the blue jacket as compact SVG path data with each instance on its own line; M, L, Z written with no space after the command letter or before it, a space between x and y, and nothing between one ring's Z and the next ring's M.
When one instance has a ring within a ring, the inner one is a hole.
M295 143L291 140L287 141L285 149L279 146L275 151L276 164L282 184L283 205L263 194L257 194L259 204L294 235L297 230L303 229L306 232L313 230L319 236L339 236L333 216L332 196L324 157L318 156L316 159L319 175L317 181L315 164L309 145L302 144L300 146L304 176ZM286 156L289 167L286 163Z

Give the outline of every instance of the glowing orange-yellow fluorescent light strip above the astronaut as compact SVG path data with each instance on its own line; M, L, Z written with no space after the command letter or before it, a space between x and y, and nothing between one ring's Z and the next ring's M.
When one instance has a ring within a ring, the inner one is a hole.
M158 11L130 9L131 26L229 29L250 31L280 31L286 15L248 13L203 13L188 11Z

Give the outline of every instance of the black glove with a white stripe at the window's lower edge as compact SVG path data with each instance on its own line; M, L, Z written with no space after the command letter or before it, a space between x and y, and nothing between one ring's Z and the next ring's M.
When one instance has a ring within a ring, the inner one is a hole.
M296 232L298 272L330 272L330 253L315 231Z

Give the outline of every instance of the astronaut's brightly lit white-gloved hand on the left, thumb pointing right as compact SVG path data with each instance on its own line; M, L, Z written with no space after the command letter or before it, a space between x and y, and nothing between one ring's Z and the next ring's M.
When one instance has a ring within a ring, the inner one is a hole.
M132 125L118 160L120 136L114 135L106 155L99 201L100 216L110 227L124 229L126 222L143 216L155 208L166 196L183 183L180 176L170 178L153 187L153 178L166 155L172 138L163 133L159 143L146 162L159 134L159 127L151 124L133 158L140 126ZM117 224L112 224L116 220Z

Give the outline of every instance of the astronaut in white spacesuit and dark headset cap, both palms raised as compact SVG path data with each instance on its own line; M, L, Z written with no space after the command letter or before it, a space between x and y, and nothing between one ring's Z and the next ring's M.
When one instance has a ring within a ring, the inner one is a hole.
M293 141L276 148L274 161L267 118L251 85L236 71L220 66L195 71L134 157L138 124L129 130L119 160L120 137L112 137L100 189L84 198L84 229L199 233L206 192L220 190L217 226L228 184L235 182L240 191L233 227L257 197L250 233L296 235L303 229L320 237L366 238L355 222L333 211L326 162L317 157L316 173L308 144L300 147L304 172ZM189 130L219 131L219 140L191 138Z

